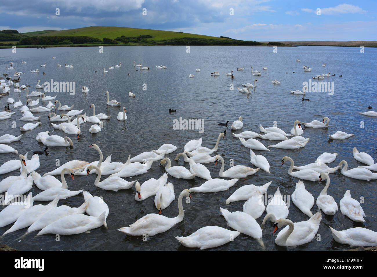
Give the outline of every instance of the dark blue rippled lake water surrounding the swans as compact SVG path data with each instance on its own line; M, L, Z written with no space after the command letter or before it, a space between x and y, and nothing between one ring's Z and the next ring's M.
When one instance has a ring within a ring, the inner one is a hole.
M107 217L108 229L101 227L90 233L61 236L58 242L54 235L36 236L37 232L23 236L26 229L0 237L0 243L18 250L198 250L185 248L174 236L188 236L208 225L231 229L221 215L219 207L228 208L230 211L242 211L245 201L225 205L225 200L239 187L247 184L259 186L272 181L268 194L274 194L278 187L283 195L293 193L298 179L287 174L289 163L281 166L283 156L293 158L295 165L305 165L316 161L316 158L323 152L337 152L339 155L335 162L329 164L330 167L337 166L341 160L345 159L348 167L354 168L362 165L352 157L352 148L356 146L360 152L367 152L377 159L375 141L377 119L358 113L366 112L369 105L374 108L372 110L376 110L377 107L375 92L377 81L374 78L377 64L377 49L375 48L365 48L365 52L360 53L357 47L278 47L277 53L273 53L272 47L192 46L190 53L187 53L186 47L180 46L129 46L105 47L103 53L100 53L97 47L66 47L17 49L17 53L12 53L11 49L0 49L0 54L2 73L13 75L16 70L24 72L25 74L21 75L20 84L31 85L31 91L38 79L42 83L51 79L72 81L76 84L75 95L67 92L46 93L46 95L58 95L56 99L60 100L62 105L74 104L74 109L84 109L87 115L92 115L92 109L89 109L90 104L95 104L96 113L105 112L111 115L110 120L103 121L102 132L98 134L89 133L92 123L87 122L81 125L83 135L79 140L75 135L68 135L74 141L73 148L50 147L48 156L40 156L41 166L37 172L41 175L56 168L55 159L60 159L60 164L72 159L88 162L98 160L98 152L88 147L92 143L100 146L104 158L112 154L112 161L118 162L126 162L129 154L135 156L141 152L157 149L164 143L171 143L178 147L178 150L167 155L172 160L172 166L184 165L189 168L188 163L184 163L182 159L173 161L176 154L183 152L185 143L202 137L202 146L213 148L219 133L224 130L227 130L227 135L225 139L221 139L216 153L224 157L225 170L229 168L230 159L234 160L234 165L254 167L250 164L250 149L242 146L239 139L231 135L231 122L237 120L239 116L243 117L242 131L259 132L259 124L267 128L276 121L277 127L282 128L286 133L290 133L295 120L311 122L315 119L321 121L324 116L330 118L328 128L304 129L302 136L310 138L305 148L296 150L271 148L270 152L254 151L267 158L271 174L259 170L247 179L241 178L228 191L193 193L190 204L184 201L184 220L165 233L149 237L147 241L143 241L143 237L126 236L117 229L132 224L148 213L157 213L153 203L154 197L149 197L142 202L135 201L133 199L134 187L118 192L102 190L94 185L95 174L88 177L75 176L75 181L66 178L70 190L85 189L94 196L103 196L110 210ZM296 58L301 61L296 62ZM23 60L27 63L21 64ZM10 61L15 63L15 70L5 70ZM135 71L133 61L136 61L136 64L149 66L150 70ZM40 67L45 62L47 67ZM121 68L109 69L110 66L120 62ZM65 63L73 64L73 69L64 68ZM326 67L322 67L323 63ZM57 67L57 64L62 64L63 67ZM166 65L167 69L156 69L156 66L161 64ZM311 72L304 72L303 65L311 67ZM237 67L242 66L244 66L243 71L236 70ZM261 71L262 75L251 76L251 66L253 70ZM103 73L103 67L109 71L108 74ZM268 70L262 70L262 67L268 67ZM200 68L201 72L195 72L196 68ZM30 70L35 69L39 69L40 73L30 73ZM95 73L95 70L98 72ZM235 76L234 80L225 75L231 70ZM211 72L214 71L218 71L220 76L212 77ZM42 72L46 72L46 75L43 76ZM323 81L334 82L333 95L329 95L328 92L308 92L306 98L310 101L301 101L301 95L290 94L290 90L302 90L303 82L309 82L313 76L328 72L335 76L325 77ZM189 78L190 73L195 77ZM342 77L338 77L339 75ZM253 83L255 78L258 82L252 93L238 92L236 87L242 87L242 83ZM281 84L271 84L274 79L280 81ZM230 90L231 84L234 85L233 91ZM90 91L82 93L82 86L89 87ZM143 90L143 86L146 90ZM110 93L110 100L116 99L121 102L120 107L106 106L106 90ZM135 93L136 98L130 98L129 91ZM15 101L21 99L23 104L26 102L25 92L14 93L13 88L11 88L10 97ZM0 99L2 107L5 106L7 98L6 96ZM47 103L42 103L40 100L40 104L44 106ZM123 106L126 107L128 117L125 122L116 120ZM169 108L176 109L177 112L169 114ZM14 110L17 113L11 119L0 121L1 135L6 133L20 135L19 127L27 123L19 120L21 117L19 108ZM33 151L43 150L45 147L35 140L37 133L50 131L50 135L66 135L49 124L48 113L34 113L34 115L42 115L40 119L42 125L23 133L20 141L9 144L19 153L25 154L29 151L29 158ZM179 117L203 120L204 132L174 130L173 120ZM12 121L16 122L17 129L12 129ZM218 125L226 121L230 121L229 127ZM364 123L364 128L360 128L361 121ZM354 136L341 141L329 140L328 135L339 130L354 133ZM268 140L261 140L261 142L266 146L277 143ZM1 164L18 158L12 153L0 155ZM218 177L220 164L216 167L214 163L205 165L210 170L212 178ZM152 168L146 174L126 179L132 181L137 178L143 184L150 178L159 178L164 172L164 167L160 166L159 162L153 162ZM0 179L17 174L18 171L13 171L3 174ZM354 199L364 197L365 203L362 207L366 214L365 223L352 222L348 217L342 216L340 209L335 216L326 216L322 213L318 231L320 241L313 239L310 243L296 248L285 248L275 245L272 223L268 221L263 230L265 249L256 239L241 234L233 242L209 250L343 250L349 249L350 246L335 242L328 226L336 230L362 226L377 231L375 209L377 181L351 179L340 174L340 171L330 174L330 178L331 183L327 193L334 197L338 207L340 199L348 189L351 190ZM168 182L174 184L176 199L168 208L162 210L162 214L175 217L178 214L179 193L185 188L199 186L204 181L200 178L176 179L169 175ZM325 185L325 182L305 180L304 183L315 199ZM35 185L31 191L33 195L40 192ZM66 200L60 200L58 205L78 207L83 201L83 195L80 193ZM34 204L47 203L35 202ZM0 207L0 210L2 209L3 206ZM314 204L311 211L315 213L316 210L317 206ZM265 213L257 219L259 224ZM291 202L288 219L299 222L308 220L308 217ZM0 234L10 227L11 225L0 228Z

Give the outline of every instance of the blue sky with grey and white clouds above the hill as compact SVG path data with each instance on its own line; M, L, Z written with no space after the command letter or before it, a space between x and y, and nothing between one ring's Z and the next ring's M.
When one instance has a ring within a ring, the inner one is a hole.
M18 0L0 3L0 30L119 26L253 41L377 40L376 15L376 0Z

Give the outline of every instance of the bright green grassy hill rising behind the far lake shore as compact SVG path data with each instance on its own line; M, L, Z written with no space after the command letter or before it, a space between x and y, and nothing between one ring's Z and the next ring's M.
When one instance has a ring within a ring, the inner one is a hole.
M103 39L104 37L115 39L124 35L125 37L138 37L139 35L151 35L153 40L170 40L172 38L184 38L184 37L194 37L194 38L217 38L221 40L227 40L227 38L210 37L207 35L196 35L189 33L179 33L171 31L159 31L152 29L137 29L137 28L126 28L126 27L104 27L104 26L93 26L84 27L78 29L69 29L63 31L39 31L39 32L29 32L26 35L59 35L59 36L87 36Z

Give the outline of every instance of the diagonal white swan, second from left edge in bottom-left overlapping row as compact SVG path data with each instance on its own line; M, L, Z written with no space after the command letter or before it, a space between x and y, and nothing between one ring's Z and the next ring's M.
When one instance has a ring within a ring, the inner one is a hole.
M35 221L40 219L43 214L47 213L49 210L56 208L58 204L59 198L56 197L47 205L33 205L32 207L26 209L20 217L16 220L16 222L9 228L3 235L29 227Z

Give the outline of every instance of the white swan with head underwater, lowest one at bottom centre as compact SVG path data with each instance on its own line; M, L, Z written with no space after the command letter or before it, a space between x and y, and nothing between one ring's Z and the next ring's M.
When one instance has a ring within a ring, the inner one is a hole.
M231 241L230 237L235 239L239 234L238 231L230 231L219 226L205 226L196 230L190 236L175 236L175 238L185 247L203 250L224 245Z

